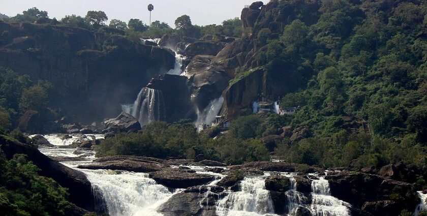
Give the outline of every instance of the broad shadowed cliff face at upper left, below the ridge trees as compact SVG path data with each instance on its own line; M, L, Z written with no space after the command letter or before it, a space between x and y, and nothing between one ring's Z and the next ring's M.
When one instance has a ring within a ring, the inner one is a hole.
M60 25L0 23L0 66L47 80L51 104L74 121L92 122L132 103L151 77L174 67L168 49L136 45L121 35ZM37 37L36 37L37 36ZM104 46L104 47L103 47ZM81 109L85 104L85 109Z

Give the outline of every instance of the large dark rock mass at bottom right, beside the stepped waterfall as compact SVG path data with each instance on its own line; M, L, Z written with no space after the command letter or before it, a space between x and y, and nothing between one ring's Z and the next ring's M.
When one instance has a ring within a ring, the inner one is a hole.
M379 175L343 171L325 179L332 196L373 215L399 215L419 202L411 184Z

